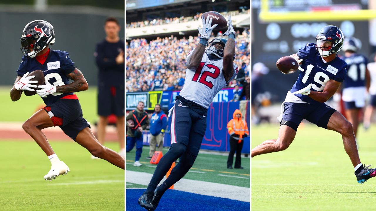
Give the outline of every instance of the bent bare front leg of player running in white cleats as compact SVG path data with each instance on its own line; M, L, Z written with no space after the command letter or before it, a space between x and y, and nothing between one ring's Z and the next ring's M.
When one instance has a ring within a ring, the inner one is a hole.
M50 146L47 138L41 130L43 128L53 126L54 124L48 113L44 109L41 109L38 112L35 112L29 119L27 119L22 125L22 128L35 140L39 147L42 148L44 153L47 156L50 156L52 154L55 154L55 152L52 150L52 147Z

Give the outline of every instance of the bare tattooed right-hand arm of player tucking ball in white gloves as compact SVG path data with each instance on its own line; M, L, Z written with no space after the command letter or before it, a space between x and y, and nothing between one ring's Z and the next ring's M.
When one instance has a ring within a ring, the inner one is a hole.
M72 83L63 85L63 86L56 86L56 92L80 92L88 90L88 82L86 82L85 77L83 77L82 72L79 69L74 69L67 77L73 80Z

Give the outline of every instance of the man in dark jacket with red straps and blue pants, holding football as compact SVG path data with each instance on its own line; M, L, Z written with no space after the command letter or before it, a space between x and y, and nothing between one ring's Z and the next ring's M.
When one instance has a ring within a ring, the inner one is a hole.
M149 117L144 111L144 102L139 101L137 108L128 113L127 120L127 152L136 144L136 157L133 166L142 166L139 162L143 148L142 131L149 125Z

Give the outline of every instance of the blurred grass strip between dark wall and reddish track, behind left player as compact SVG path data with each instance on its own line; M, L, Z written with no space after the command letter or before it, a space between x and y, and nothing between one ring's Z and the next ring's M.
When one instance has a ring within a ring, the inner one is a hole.
M38 95L26 96L21 95L18 101L13 102L10 97L10 90L12 87L0 87L0 99L4 109L0 112L0 121L9 122L24 122L36 110L44 107L45 104ZM96 86L90 86L88 90L77 92L76 95L80 100L83 111L83 118L89 122L97 121L97 89ZM5 109L8 108L8 109Z

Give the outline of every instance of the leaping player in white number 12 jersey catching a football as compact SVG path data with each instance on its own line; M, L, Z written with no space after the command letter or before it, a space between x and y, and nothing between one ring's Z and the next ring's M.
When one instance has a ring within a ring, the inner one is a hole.
M228 22L229 27L224 33L228 39L208 42L217 24L211 26L212 18L202 18L200 42L188 53L185 84L169 114L172 113L171 147L159 161L147 190L138 199L138 203L148 210L155 210L164 192L192 167L205 135L208 108L217 92L237 75L238 66L233 63L236 34L230 16ZM180 162L157 187L177 158Z

